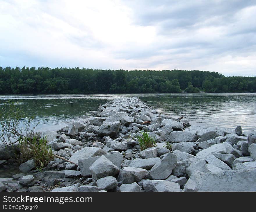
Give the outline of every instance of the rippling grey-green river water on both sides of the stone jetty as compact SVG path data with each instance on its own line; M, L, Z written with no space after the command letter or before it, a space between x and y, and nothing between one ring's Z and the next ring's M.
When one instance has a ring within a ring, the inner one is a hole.
M234 129L241 125L243 132L256 131L256 94L91 94L91 95L7 95L0 96L0 109L8 100L22 108L26 116L39 122L38 131L57 130L79 120L78 116L92 115L97 108L116 97L138 96L159 112L178 118L184 114L191 125Z

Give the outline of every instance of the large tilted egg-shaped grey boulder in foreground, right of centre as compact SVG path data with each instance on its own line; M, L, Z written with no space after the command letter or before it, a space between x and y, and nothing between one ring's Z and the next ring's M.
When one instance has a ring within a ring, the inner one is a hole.
M147 173L148 179L166 179L176 166L177 157L173 153L168 153L161 161L155 164Z

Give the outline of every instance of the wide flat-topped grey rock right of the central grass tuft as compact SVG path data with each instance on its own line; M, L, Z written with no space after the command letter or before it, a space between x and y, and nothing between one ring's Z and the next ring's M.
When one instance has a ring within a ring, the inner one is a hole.
M170 133L170 137L167 142L187 142L197 141L196 135L187 131L173 131Z

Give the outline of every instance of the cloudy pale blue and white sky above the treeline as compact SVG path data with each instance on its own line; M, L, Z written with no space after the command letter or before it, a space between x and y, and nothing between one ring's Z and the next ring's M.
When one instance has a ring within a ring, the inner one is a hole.
M0 0L0 66L256 76L255 17L255 0Z

